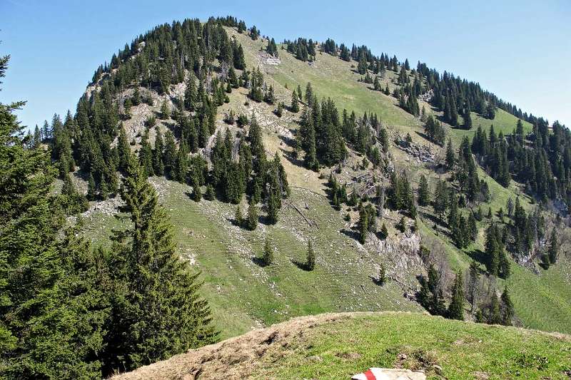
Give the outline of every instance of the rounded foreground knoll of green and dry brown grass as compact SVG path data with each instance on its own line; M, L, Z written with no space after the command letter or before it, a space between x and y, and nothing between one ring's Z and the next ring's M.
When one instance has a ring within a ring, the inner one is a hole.
M300 317L113 380L349 379L370 367L432 379L567 379L571 338L406 313Z

